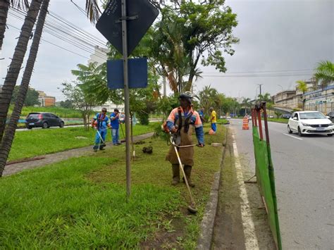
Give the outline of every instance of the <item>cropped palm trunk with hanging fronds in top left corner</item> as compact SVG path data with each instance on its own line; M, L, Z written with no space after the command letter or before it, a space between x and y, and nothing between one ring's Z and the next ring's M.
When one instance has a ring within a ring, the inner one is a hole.
M28 8L29 2L27 0L4 0L0 1L0 50L4 42L6 21L9 6L17 6L18 8Z

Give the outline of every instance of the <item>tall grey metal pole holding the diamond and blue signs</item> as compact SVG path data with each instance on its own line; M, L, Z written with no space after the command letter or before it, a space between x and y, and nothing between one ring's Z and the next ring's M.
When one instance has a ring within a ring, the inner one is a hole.
M126 196L131 192L131 156L130 156L130 94L128 85L128 34L126 20L126 0L122 0L122 35L123 35L123 71L125 99L125 154L126 154Z

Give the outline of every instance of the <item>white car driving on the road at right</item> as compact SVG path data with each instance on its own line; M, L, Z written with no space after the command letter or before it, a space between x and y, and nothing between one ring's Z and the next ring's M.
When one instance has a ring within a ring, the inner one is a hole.
M298 111L292 113L287 123L287 132L297 132L299 137L303 135L328 135L334 134L333 123L318 111Z

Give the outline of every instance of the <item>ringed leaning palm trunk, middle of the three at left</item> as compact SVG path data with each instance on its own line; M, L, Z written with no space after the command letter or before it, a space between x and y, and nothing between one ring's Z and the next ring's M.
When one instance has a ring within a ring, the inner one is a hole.
M30 4L29 11L27 11L25 22L23 23L21 29L20 37L18 38L18 44L16 44L11 65L9 65L8 68L4 86L0 92L0 142L6 127L6 118L9 104L11 103L11 96L13 95L13 89L16 85L16 80L18 80L18 74L20 73L23 58L25 57L25 52L27 51L29 37L32 32L32 28L35 25L36 17L41 4L42 0L32 0Z

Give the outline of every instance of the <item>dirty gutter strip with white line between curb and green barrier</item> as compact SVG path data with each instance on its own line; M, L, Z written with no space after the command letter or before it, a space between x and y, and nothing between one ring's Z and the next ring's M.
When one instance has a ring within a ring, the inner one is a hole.
M230 127L221 170L213 249L275 249L266 210L252 177L247 156L238 154L235 130ZM255 179L256 180L256 179Z

